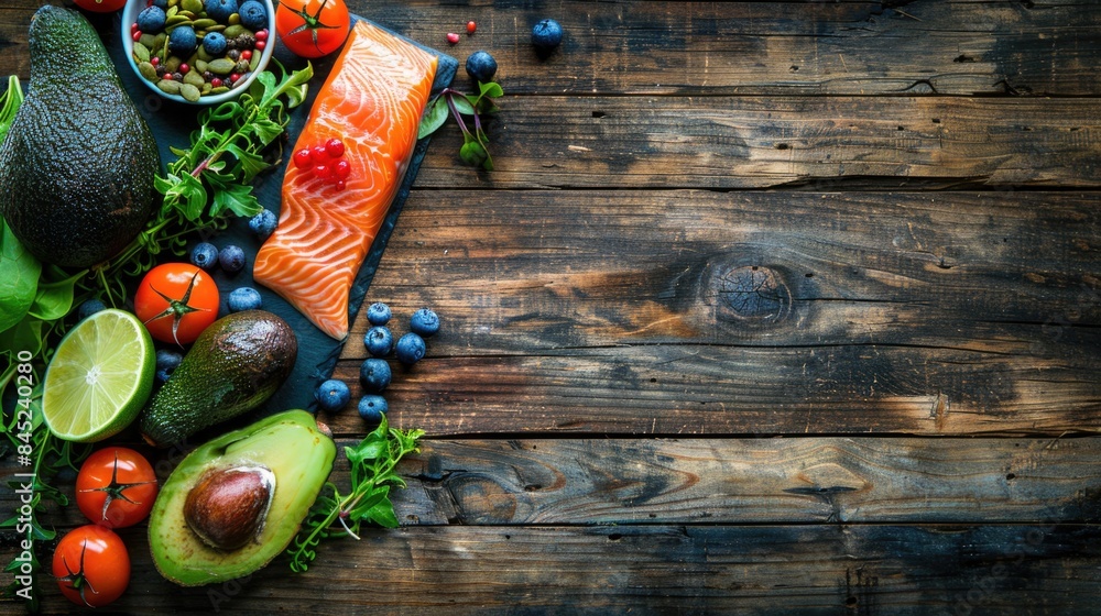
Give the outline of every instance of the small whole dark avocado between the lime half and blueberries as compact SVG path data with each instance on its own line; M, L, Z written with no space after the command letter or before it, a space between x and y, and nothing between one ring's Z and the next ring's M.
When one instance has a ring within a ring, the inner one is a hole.
M276 315L246 310L218 319L142 411L142 438L154 447L178 444L259 407L287 380L297 356L294 331Z

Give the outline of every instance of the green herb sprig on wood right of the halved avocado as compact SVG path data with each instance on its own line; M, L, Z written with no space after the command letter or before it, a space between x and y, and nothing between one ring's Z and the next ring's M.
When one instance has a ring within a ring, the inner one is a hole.
M379 427L359 444L345 448L351 468L351 490L341 494L336 484L325 483L287 549L292 571L302 573L309 568L323 539L342 536L359 539L359 528L364 521L384 528L397 527L390 488L405 487L405 480L394 469L406 453L419 451L417 441L423 436L424 430L390 428L382 416Z

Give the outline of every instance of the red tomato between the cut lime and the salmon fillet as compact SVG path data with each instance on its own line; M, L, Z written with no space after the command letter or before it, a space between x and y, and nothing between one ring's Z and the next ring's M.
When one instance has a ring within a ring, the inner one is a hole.
M157 265L138 286L134 314L156 340L189 344L218 318L218 285L190 263Z

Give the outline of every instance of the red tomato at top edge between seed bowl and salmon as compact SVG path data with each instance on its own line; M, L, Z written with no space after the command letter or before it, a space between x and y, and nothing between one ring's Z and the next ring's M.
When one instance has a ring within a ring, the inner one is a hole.
M339 50L350 24L345 0L281 0L275 9L280 40L302 57L321 57Z

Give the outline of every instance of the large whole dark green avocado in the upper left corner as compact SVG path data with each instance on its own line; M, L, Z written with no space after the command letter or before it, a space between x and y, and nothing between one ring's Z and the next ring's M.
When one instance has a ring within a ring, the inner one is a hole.
M29 92L0 145L0 216L40 261L90 267L152 216L160 152L83 15L46 4L29 42Z

